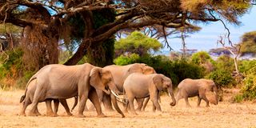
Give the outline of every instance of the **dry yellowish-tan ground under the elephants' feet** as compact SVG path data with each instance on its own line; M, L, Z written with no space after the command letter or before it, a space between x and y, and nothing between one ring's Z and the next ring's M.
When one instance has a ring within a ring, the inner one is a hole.
M202 101L201 107L196 107L196 98L190 99L191 108L187 108L184 100L180 100L177 106L169 105L170 98L162 96L162 113L154 113L149 102L145 112L138 115L126 114L121 118L117 112L106 112L106 118L97 118L95 111L85 111L86 118L66 116L63 107L59 106L58 117L46 117L45 103L39 103L38 110L42 116L24 117L18 116L21 109L19 99L24 90L3 91L0 90L0 127L256 127L256 103L230 103L228 100L236 91L224 94L224 101L218 106L205 107ZM69 99L72 106L74 99ZM122 106L120 106L122 108ZM76 114L78 107L74 110ZM30 106L26 110L26 114Z

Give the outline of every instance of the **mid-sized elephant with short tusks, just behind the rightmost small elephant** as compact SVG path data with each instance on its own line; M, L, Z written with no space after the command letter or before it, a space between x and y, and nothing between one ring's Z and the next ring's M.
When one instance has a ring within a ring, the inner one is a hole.
M134 98L150 97L150 100L153 102L153 110L157 109L158 111L161 111L158 95L161 90L165 89L168 90L173 101L170 103L170 106L175 106L176 104L172 82L170 78L167 78L163 74L130 74L126 78L123 88L126 92L126 98L128 98L130 110L133 114L136 114L134 110ZM128 102L126 102L126 110Z

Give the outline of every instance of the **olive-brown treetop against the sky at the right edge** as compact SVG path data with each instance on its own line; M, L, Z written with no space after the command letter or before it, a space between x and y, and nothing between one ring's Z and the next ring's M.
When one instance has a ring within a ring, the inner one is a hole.
M242 35L241 54L256 54L256 31Z

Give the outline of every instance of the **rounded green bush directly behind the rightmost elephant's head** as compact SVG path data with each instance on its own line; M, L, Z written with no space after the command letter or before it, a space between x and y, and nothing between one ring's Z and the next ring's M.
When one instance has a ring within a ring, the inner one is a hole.
M230 72L226 70L214 70L212 73L206 76L206 78L214 80L218 88L230 87L234 84L234 78Z

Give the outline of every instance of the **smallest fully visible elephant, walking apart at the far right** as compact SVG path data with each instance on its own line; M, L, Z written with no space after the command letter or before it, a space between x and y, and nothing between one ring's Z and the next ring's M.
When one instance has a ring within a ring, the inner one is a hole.
M218 93L217 87L214 81L208 79L190 79L186 78L178 84L178 94L177 94L177 104L178 100L185 98L186 106L190 106L188 98L198 96L198 106L200 106L201 100L206 101L206 106L209 106L209 100L206 98L206 91L213 91L215 100L215 105L218 104Z

